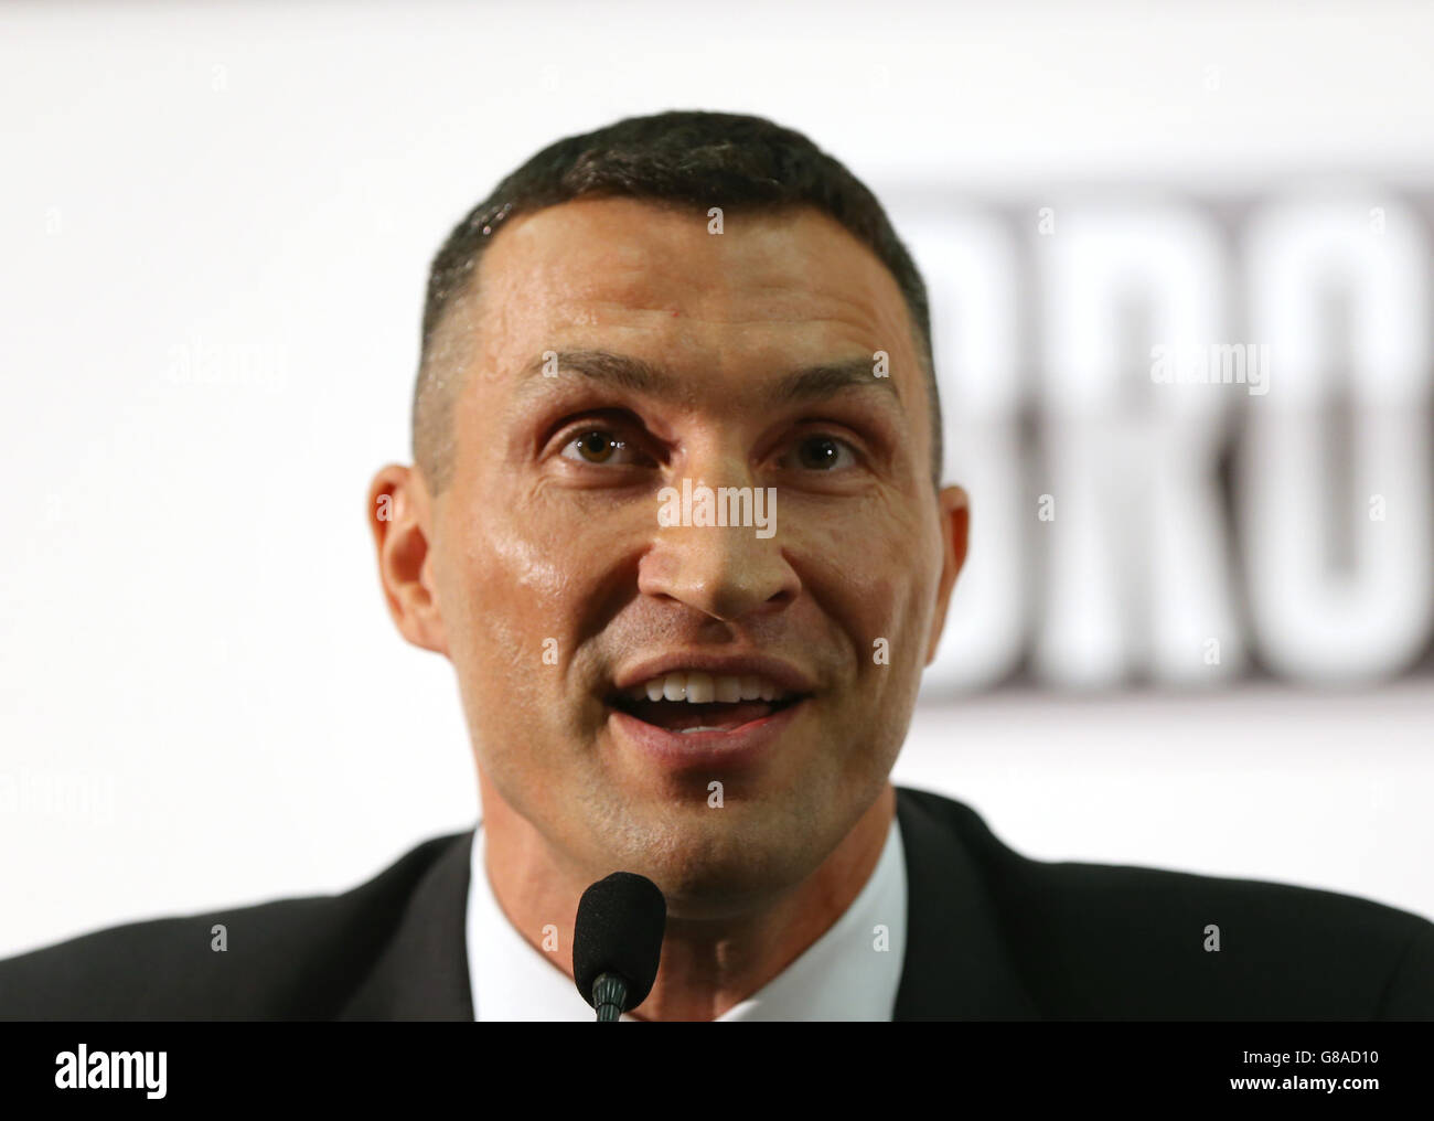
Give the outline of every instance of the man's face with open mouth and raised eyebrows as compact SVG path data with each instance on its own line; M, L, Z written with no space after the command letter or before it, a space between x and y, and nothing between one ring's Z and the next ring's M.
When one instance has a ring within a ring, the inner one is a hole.
M710 234L701 211L582 199L502 228L479 281L450 308L430 576L485 781L575 874L642 873L674 916L799 883L885 787L955 578L895 280L815 209ZM545 376L576 351L657 381ZM777 396L852 360L849 384ZM664 525L684 479L771 487L774 533ZM796 700L624 697L664 655L771 659Z

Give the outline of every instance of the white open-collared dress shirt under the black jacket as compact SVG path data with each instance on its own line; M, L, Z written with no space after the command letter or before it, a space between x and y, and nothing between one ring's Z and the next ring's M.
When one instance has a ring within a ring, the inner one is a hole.
M483 863L482 821L473 830L470 859L473 1018L591 1022L595 1013L572 978L518 933L498 905ZM905 955L906 856L893 816L880 859L852 905L792 965L717 1019L889 1021Z

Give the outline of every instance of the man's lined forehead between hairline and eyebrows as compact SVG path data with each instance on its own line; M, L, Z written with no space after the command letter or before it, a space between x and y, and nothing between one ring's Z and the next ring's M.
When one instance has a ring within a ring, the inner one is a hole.
M726 212L710 232L700 206L578 199L502 229L479 265L470 317L488 371L526 363L595 333L675 360L728 356L913 357L895 278L815 208ZM718 353L703 353L717 348ZM816 354L815 351L827 351ZM797 353L793 353L797 351Z

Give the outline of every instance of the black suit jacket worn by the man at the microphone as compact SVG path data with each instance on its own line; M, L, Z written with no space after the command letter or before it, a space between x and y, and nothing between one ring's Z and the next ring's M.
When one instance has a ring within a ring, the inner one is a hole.
M1415 915L1028 860L969 807L902 787L896 811L909 887L896 1019L1434 1019L1434 923ZM338 896L130 923L0 962L0 1018L472 1021L472 837L429 840Z

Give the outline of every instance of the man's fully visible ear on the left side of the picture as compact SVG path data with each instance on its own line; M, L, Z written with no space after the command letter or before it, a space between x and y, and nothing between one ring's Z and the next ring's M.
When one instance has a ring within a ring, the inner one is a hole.
M369 528L389 614L409 642L447 657L447 636L433 588L432 510L423 474L390 463L369 485Z

